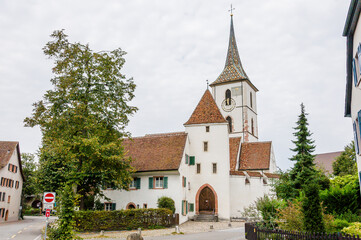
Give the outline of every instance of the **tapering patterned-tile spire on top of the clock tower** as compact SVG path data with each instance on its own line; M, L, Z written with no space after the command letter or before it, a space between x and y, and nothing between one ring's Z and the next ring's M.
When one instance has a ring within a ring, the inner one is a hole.
M226 65L224 66L222 73L211 84L211 86L219 83L246 79L248 79L248 76L242 67L241 59L239 58L237 42L233 28L233 14L231 13L231 30L229 34Z

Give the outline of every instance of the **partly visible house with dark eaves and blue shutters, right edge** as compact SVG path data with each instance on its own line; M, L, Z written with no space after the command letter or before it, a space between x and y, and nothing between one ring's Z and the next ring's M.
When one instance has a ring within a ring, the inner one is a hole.
M347 13L343 36L346 46L345 117L350 117L355 138L356 162L361 180L361 2L352 0Z

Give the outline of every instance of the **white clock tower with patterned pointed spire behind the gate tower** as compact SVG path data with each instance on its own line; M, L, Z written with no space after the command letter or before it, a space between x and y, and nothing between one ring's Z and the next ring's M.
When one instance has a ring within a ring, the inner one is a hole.
M226 65L210 84L213 98L228 122L229 137L242 137L242 142L258 141L256 93L239 58L231 14L231 30Z

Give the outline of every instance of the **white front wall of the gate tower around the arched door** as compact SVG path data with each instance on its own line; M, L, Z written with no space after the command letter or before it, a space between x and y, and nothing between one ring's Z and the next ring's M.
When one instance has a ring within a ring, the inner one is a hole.
M209 132L206 132L209 126ZM197 209L197 192L205 184L211 186L217 195L218 217L229 219L229 140L228 125L198 124L186 126L189 137L189 153L195 156L195 165L189 166L188 193L189 202ZM203 149L203 142L208 142L208 151ZM213 173L213 163L217 164L217 173ZM197 164L201 164L201 172L197 174ZM191 213L192 217L196 212Z

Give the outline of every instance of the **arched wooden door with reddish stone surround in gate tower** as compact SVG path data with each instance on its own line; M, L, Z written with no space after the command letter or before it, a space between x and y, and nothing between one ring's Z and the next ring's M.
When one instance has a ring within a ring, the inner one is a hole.
M204 184L197 192L196 214L218 214L217 193L209 184Z

